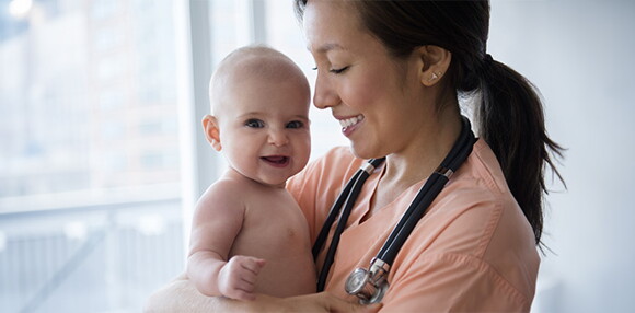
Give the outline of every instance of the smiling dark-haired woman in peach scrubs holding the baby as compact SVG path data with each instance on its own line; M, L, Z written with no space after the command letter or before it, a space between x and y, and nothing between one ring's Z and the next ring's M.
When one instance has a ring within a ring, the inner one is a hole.
M489 3L296 0L296 9L316 62L314 104L333 112L351 143L287 186L312 240L362 159L386 156L353 208L327 292L232 302L198 297L184 279L155 294L150 308L192 308L184 306L192 300L187 305L201 310L362 310L344 281L368 267L457 141L458 100L465 97L480 139L395 258L381 310L528 312L540 263L543 170L554 169L550 153L562 148L545 132L531 84L486 53Z

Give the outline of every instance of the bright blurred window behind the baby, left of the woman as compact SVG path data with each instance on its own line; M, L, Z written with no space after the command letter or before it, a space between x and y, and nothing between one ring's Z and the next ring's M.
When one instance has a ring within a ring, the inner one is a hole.
M194 200L224 166L199 124L213 66L266 43L314 81L291 4L0 7L2 310L139 312L183 270ZM312 159L346 143L328 112L311 119Z

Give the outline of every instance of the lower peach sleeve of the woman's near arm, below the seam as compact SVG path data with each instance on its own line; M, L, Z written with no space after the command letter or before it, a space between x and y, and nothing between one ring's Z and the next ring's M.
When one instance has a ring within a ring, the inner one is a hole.
M382 312L529 312L531 302L483 260L424 255L390 286Z

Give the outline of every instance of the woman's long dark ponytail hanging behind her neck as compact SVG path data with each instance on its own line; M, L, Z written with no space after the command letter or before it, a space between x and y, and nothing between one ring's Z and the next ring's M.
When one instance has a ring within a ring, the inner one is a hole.
M475 109L480 137L496 154L540 244L543 195L549 194L544 172L551 167L564 183L552 161L552 155L562 158L564 149L546 134L542 102L531 82L489 55L480 72L482 101Z

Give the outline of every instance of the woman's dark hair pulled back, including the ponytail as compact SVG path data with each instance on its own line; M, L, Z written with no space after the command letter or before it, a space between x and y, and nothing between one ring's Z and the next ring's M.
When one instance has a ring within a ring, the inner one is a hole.
M552 156L563 148L546 134L541 98L521 74L486 51L489 1L350 1L363 26L395 58L420 46L452 53L447 83L458 94L481 94L474 109L478 135L492 148L529 223L536 244L543 227L544 171L564 183ZM302 19L307 0L296 0Z

